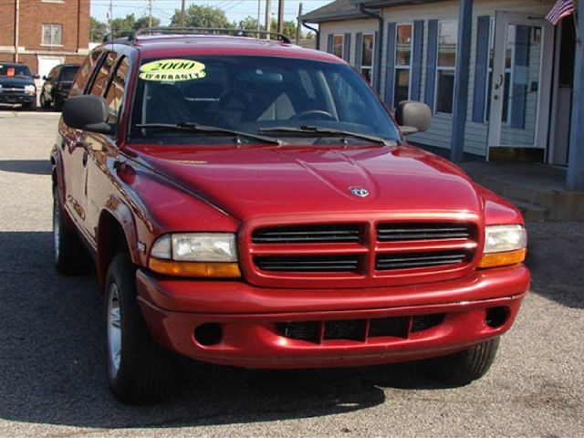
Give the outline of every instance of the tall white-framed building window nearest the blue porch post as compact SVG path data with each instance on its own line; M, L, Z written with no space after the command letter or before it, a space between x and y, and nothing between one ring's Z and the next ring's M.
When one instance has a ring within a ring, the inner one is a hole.
M436 112L453 113L454 68L458 26L454 21L438 24L438 65L436 68Z

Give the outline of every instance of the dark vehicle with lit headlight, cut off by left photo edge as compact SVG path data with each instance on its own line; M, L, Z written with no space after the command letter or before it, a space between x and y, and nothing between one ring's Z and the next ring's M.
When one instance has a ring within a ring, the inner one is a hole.
M25 64L0 62L0 103L19 103L24 109L36 110L36 78Z

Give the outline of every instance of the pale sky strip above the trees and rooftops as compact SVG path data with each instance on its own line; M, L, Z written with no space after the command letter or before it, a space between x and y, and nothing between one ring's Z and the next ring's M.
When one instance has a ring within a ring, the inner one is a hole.
M133 13L136 17L147 16L150 0L112 0L113 17L123 18ZM175 9L181 8L181 0L151 0L152 16L162 20L162 25L168 25ZM186 5L211 5L223 9L229 21L239 21L246 16L257 16L257 5L260 2L260 23L264 23L266 14L266 0L187 0ZM296 20L298 4L302 3L302 13L318 9L331 3L332 0L284 0L284 19ZM277 18L278 0L272 0L272 16ZM106 22L110 8L110 0L91 0L91 16L99 21Z

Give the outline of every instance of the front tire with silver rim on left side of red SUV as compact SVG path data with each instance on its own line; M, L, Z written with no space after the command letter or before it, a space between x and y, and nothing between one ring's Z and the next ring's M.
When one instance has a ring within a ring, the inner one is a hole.
M105 309L111 391L131 404L162 401L173 389L174 358L152 339L146 327L138 306L136 267L128 255L116 255L111 261Z

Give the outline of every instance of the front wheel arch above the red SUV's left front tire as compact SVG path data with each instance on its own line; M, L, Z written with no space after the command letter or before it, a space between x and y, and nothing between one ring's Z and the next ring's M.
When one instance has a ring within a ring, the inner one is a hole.
M105 287L108 266L115 255L125 252L130 255L133 264L140 263L136 227L130 207L121 202L114 204L114 208L103 210L99 215L96 264L99 288L102 291Z

